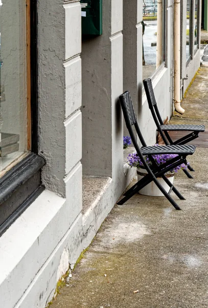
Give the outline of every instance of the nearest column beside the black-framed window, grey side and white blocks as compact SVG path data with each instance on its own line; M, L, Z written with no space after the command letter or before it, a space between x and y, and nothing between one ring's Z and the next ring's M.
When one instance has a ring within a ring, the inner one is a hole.
M81 6L47 0L38 11L42 182L66 198L68 229L82 209Z

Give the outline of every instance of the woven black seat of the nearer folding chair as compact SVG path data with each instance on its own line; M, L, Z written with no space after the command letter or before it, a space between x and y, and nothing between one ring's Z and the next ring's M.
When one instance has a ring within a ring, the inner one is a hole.
M143 146L141 152L143 155L148 154L186 154L192 155L195 152L195 145L157 145L157 146Z

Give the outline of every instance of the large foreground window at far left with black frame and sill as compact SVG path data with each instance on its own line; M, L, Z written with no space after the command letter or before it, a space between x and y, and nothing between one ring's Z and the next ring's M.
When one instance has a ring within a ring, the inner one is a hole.
M36 6L35 0L0 0L0 234L43 189L44 159L37 155Z

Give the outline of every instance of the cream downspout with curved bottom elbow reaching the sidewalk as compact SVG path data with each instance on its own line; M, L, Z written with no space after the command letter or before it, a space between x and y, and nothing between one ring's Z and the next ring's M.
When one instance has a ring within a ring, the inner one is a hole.
M180 114L185 111L180 106L180 0L174 0L174 104Z

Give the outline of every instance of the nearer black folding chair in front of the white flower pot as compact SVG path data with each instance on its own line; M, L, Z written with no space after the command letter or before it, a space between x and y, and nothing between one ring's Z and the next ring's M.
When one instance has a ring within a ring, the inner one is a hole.
M173 190L179 199L184 200L184 197L175 188L175 186L168 180L168 178L166 178L165 174L166 172L179 166L182 163L186 164L187 155L192 155L196 147L194 145L147 146L142 136L142 133L140 131L140 128L138 126L138 123L136 121L136 116L133 110L133 105L132 105L129 91L126 91L122 95L120 95L119 100L121 103L121 107L122 107L123 114L124 114L124 119L126 122L127 129L129 131L132 143L135 147L137 155L140 157L144 165L144 168L147 170L148 174L142 180L134 184L129 190L127 190L124 194L125 197L121 201L119 201L118 204L124 204L124 202L129 200L133 195L136 194L136 192L141 190L143 187L145 187L150 182L154 181L154 183L161 190L161 192L163 192L163 194L170 201L170 203L176 209L180 209L177 203L171 198L170 193ZM140 141L143 145L141 148L138 146L136 136L132 130L132 125L134 125L137 136L138 138L140 138ZM155 154L177 154L177 156L167 161L166 163L158 166L152 157L152 155L155 155ZM151 160L151 164L152 164L151 167L148 166L148 164L146 163L144 156L148 156L149 159ZM170 187L169 192L167 192L163 188L163 186L160 185L160 183L157 180L158 177L163 178L164 181L169 185Z

